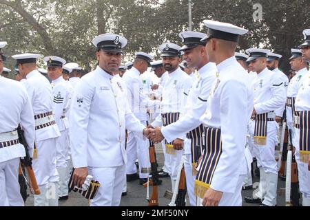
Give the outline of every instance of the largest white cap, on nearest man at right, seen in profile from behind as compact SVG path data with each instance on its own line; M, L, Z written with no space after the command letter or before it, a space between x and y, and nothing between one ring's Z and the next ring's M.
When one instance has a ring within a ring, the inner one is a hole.
M230 23L212 20L204 20L203 23L208 28L207 36L201 39L201 41L205 42L207 39L215 38L238 43L240 35L247 34L248 32L248 30L239 28L236 25L232 25Z

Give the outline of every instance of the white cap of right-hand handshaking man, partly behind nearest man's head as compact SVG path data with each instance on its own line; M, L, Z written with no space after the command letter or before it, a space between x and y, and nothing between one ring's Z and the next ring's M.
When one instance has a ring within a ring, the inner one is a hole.
M207 36L207 34L200 32L186 31L186 32L180 32L178 36L180 36L180 38L182 39L182 43L184 44L183 47L180 48L180 51L183 51L192 49L194 47L197 47L198 45L205 46L205 42L202 42L200 40L203 39L205 36Z

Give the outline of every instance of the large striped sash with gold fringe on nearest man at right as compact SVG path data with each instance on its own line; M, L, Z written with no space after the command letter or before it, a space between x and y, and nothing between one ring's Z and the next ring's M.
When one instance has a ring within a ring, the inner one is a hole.
M205 133L205 153L195 179L194 188L195 195L200 198L203 198L205 192L210 188L216 166L222 154L220 129L206 128Z

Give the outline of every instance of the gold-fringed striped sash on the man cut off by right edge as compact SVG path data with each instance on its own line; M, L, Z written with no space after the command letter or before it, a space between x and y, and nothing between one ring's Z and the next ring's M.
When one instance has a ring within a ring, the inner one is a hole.
M300 133L299 133L299 153L300 153L300 161L304 163L308 163L309 155L310 155L310 111L300 111L299 119L300 119Z

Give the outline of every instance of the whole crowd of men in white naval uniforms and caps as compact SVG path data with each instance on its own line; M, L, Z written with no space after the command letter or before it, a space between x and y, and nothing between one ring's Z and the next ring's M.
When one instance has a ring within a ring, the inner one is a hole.
M76 186L87 175L101 183L91 206L119 206L126 181L143 185L151 178L148 139L163 146L158 175L171 178L172 191L183 162L190 206L241 206L241 190L252 189L253 161L260 184L245 201L276 206L278 177L285 175L280 162L293 146L302 206L310 206L310 30L302 33L302 45L288 49L291 70L284 74L280 54L259 48L235 53L247 30L209 20L204 25L207 34L180 32L182 47L160 45L161 60L136 52L121 67L127 39L96 36L99 65L83 77L78 64L59 56L46 56L45 70L37 69L39 54L19 54L12 56L15 80L9 79L6 42L0 42L0 206L24 205L19 125L41 191L34 206L68 199L72 168ZM159 83L152 83L149 67ZM285 142L282 130L291 142L276 151Z

